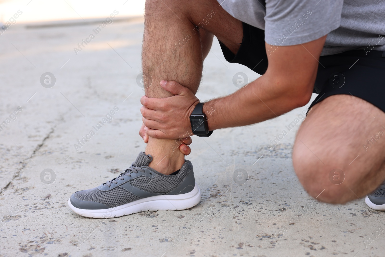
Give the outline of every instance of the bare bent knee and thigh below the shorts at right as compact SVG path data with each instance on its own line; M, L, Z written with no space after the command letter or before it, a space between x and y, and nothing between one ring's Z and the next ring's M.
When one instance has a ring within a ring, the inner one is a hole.
M333 95L313 106L293 148L293 165L305 189L314 197L325 189L318 199L326 202L346 202L375 190L385 179L384 126L383 111L351 95ZM334 175L344 181L338 184Z

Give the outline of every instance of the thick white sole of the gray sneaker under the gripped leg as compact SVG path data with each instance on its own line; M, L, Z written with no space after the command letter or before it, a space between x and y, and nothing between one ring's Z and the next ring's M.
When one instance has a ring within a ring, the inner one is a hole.
M115 218L137 212L186 210L197 205L200 200L201 190L195 184L194 189L189 193L180 195L156 195L108 209L79 209L72 205L70 199L68 199L68 205L72 211L84 217Z

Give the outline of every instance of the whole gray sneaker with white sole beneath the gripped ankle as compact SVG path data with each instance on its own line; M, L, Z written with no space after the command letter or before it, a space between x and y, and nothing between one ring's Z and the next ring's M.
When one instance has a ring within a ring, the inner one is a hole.
M141 152L134 163L102 185L77 191L68 199L75 213L90 218L114 218L145 211L174 211L194 207L201 200L191 161L164 175L150 168L151 155Z

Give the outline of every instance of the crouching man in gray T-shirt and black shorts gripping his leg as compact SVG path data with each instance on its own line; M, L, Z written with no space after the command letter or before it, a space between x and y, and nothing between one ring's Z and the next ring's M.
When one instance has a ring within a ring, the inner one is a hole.
M328 203L369 194L366 203L385 210L385 2L219 1L146 1L146 153L117 178L72 195L72 210L105 218L191 208L200 190L184 160L188 136L275 118L313 91L292 156L303 187ZM226 60L263 75L201 104L194 94L213 35Z

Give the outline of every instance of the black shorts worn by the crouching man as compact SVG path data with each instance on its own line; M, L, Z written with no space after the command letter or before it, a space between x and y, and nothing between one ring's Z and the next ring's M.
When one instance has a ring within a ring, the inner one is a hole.
M263 30L243 23L242 44L236 55L222 42L219 44L228 62L243 64L259 74L266 71ZM385 112L385 52L353 50L320 56L319 62L313 90L318 96L310 108L328 96L347 94L362 98Z

